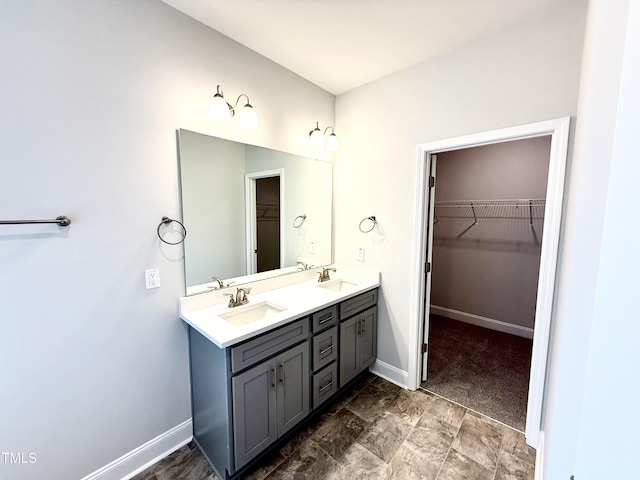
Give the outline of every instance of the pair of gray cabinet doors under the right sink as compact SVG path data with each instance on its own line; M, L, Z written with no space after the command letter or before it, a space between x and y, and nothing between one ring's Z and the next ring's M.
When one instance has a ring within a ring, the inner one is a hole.
M340 323L340 388L375 361L377 329L377 306Z

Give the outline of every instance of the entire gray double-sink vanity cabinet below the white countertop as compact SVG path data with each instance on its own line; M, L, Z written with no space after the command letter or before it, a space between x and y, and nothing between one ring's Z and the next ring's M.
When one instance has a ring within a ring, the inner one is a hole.
M189 328L193 434L216 475L243 468L376 358L377 289L227 348Z

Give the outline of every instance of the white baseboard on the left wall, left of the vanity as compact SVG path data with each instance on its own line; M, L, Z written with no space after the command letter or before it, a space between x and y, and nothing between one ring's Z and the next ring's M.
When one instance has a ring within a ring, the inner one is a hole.
M193 423L191 419L185 420L180 425L161 433L129 453L125 453L82 480L129 479L186 445L192 438Z

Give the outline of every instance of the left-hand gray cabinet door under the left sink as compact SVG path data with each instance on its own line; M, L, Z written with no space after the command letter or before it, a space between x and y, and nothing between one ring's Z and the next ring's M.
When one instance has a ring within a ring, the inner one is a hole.
M271 359L232 379L236 470L278 438L275 374Z

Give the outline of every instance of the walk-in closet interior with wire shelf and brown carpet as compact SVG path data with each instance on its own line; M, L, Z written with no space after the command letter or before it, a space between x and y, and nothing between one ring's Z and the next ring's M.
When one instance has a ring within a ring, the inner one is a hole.
M437 155L422 388L524 431L551 137Z

